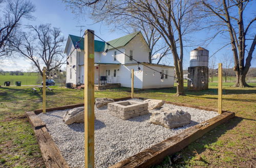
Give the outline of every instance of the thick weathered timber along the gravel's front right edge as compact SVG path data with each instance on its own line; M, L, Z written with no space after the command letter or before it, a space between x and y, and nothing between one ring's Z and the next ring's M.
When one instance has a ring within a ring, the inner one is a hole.
M190 127L181 133L169 137L164 141L110 167L150 167L160 163L165 156L179 152L191 142L194 142L206 132L234 117L234 113L226 111L210 120Z

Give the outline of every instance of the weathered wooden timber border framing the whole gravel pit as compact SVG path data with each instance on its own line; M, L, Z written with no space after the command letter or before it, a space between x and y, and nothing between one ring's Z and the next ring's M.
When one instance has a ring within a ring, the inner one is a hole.
M148 98L143 97L135 97L141 100L145 100ZM131 99L131 97L124 97L114 99L114 101L121 101ZM216 108L208 108L208 107L201 107L183 103L176 103L176 102L169 102L165 101L167 104L174 104L178 106L186 106L198 109L204 109L207 111L218 111ZM80 104L73 104L73 105L66 105L60 107L52 107L46 108L46 111L54 111L54 110L64 110L70 109L75 107L83 106L84 103ZM40 146L40 150L42 153L42 157L45 160L45 164L47 167L69 167L66 160L62 157L59 149L57 148L56 144L54 143L51 135L46 129L46 124L41 121L41 119L37 116L38 114L42 113L42 109L37 109L34 111L29 111L26 113L29 122L31 123L35 135L37 137L38 144ZM206 132L211 129L214 129L218 125L228 121L234 117L234 113L230 111L226 111L225 113L197 124L193 127L190 127L181 133L169 137L164 141L130 157L125 160L122 160L111 167L148 167L154 164L160 163L165 156L172 155L181 149L185 148L191 142L195 141L197 138L203 136Z

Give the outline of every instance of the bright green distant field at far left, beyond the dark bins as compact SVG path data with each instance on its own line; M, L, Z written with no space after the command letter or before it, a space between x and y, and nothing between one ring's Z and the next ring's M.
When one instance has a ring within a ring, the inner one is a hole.
M11 85L15 85L15 81L21 81L22 85L36 85L38 73L24 72L24 75L0 75L0 85L4 85L5 81L10 81Z

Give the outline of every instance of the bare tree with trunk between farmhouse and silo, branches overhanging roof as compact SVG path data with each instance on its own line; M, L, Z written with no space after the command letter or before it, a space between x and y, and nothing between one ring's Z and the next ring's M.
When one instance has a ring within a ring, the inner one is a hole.
M74 12L88 11L97 21L115 24L130 20L138 20L151 25L161 35L173 54L177 77L176 95L184 95L183 81L183 49L184 36L191 32L193 25L193 8L191 0L123 0L123 1L88 1L64 0ZM91 7L84 10L84 6ZM76 10L76 11L75 11Z

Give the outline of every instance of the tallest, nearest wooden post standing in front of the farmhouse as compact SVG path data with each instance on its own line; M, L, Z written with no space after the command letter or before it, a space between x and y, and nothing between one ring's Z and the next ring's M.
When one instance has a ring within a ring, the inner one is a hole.
M94 167L94 31L84 35L84 161Z

